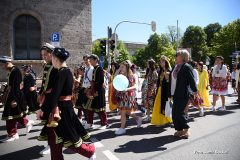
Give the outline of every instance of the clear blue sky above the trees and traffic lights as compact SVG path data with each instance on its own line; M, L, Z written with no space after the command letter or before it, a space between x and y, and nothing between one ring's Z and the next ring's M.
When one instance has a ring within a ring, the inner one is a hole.
M181 34L189 25L226 25L240 18L240 0L92 0L92 40L107 37L124 20L157 24L156 33L178 26ZM151 26L122 23L116 33L120 40L147 43Z

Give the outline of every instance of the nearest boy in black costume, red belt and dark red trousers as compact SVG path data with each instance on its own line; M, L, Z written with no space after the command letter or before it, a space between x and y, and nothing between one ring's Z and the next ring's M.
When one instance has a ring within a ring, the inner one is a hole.
M63 160L62 148L66 147L87 158L95 157L94 144L85 144L90 135L82 126L74 112L72 102L73 75L66 64L70 54L64 48L55 48L52 52L52 63L58 70L56 81L52 87L49 108L51 114L60 114L58 125L48 127L48 143L51 149L51 160ZM60 112L56 113L55 108Z

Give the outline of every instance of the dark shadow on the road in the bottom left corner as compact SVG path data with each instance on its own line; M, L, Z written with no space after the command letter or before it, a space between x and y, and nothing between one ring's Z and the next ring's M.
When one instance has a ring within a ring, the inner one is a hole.
M30 160L30 159L38 159L41 157L39 152L43 150L43 146L34 146L30 148L26 148L23 150L19 150L16 152L8 153L5 155L0 156L0 159L4 160L16 160L16 159L21 159L21 160Z

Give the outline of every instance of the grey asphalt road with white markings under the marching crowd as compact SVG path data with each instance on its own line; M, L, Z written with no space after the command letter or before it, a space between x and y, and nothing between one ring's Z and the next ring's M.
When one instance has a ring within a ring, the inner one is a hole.
M144 123L141 128L136 128L133 119L127 122L126 135L115 136L120 117L109 113L110 128L90 131L96 141L97 160L240 160L240 106L235 101L236 96L227 96L226 111L207 111L204 117L191 109L189 139L174 138L171 127ZM29 119L34 120L35 116L31 115ZM98 118L95 123L99 124ZM38 154L46 145L36 140L40 129L41 126L35 125L25 135L25 128L21 128L19 140L0 143L0 160L50 160L49 155ZM5 121L0 121L0 139L5 135ZM63 152L66 160L86 159L67 149Z

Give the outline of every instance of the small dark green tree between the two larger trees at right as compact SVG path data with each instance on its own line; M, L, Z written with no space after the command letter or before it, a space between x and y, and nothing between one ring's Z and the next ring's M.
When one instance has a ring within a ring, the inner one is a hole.
M220 31L220 29L222 28L222 26L219 23L211 23L209 25L207 25L206 27L204 27L204 32L207 34L207 46L208 47L212 47L213 46L213 38L215 36L216 33L218 33Z

